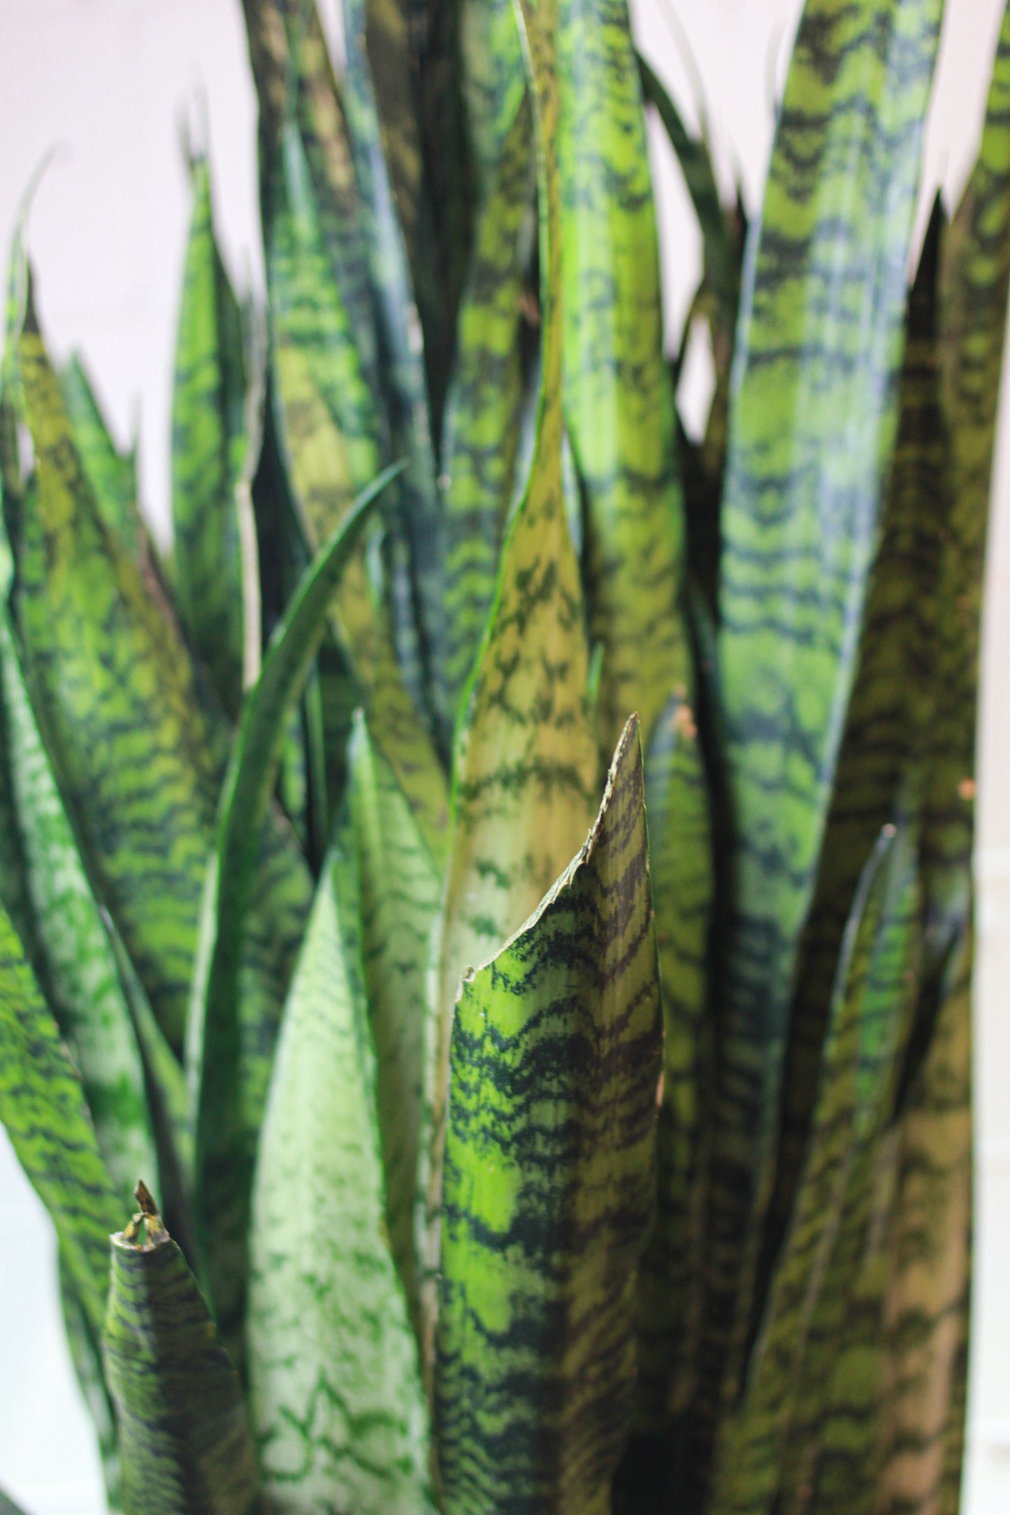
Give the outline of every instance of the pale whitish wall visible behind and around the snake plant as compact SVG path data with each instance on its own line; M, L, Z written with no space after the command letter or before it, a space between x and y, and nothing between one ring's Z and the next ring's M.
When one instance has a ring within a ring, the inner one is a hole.
M639 39L690 121L703 82L724 189L760 200L798 0L639 0ZM335 0L326 11L335 12ZM978 142L999 0L948 0L925 209L960 194ZM335 29L336 30L336 29ZM694 56L694 64L687 59ZM0 258L47 148L30 245L51 347L79 347L120 441L139 432L142 503L168 532L170 383L186 230L180 111L203 91L217 220L239 286L262 285L254 97L239 0L0 0ZM668 339L700 271L672 159L653 138ZM922 215L919 217L922 224ZM704 355L681 394L704 412ZM965 1515L1010 1512L1010 386L984 627L977 977L977 1279ZM1002 648L1002 658L999 656ZM51 1227L0 1130L0 1486L30 1515L98 1515L98 1460L62 1341Z

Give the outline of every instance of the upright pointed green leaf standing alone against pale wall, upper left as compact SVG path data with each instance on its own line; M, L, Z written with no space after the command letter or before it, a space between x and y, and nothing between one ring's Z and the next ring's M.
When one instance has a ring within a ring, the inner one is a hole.
M236 485L245 462L242 318L214 235L210 168L189 165L192 211L173 391L179 617L232 720L242 703L244 598Z

